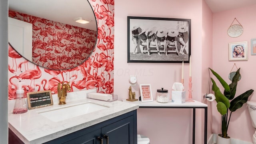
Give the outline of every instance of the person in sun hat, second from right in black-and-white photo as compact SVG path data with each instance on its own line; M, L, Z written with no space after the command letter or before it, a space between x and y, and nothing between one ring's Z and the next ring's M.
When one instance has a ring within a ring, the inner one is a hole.
M179 35L179 32L178 30L175 30L175 29L169 29L168 30L168 33L167 33L167 46L166 46L166 52L165 52L165 55L167 56L167 53L168 53L168 46L171 46L171 47L175 47L175 50L177 52L177 54L179 55L179 50L178 50L178 47L177 47L177 36Z

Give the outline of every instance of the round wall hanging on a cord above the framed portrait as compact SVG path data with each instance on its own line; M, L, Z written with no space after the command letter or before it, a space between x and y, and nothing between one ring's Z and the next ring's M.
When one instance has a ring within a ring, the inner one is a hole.
M236 20L236 18L234 19ZM233 22L231 23L230 27L228 28L228 36L232 37L232 38L236 38L238 36L241 36L242 33L244 32L244 28L243 26L240 24L240 22L238 22L238 20L236 20L239 24L233 24ZM233 25L232 25L233 24Z

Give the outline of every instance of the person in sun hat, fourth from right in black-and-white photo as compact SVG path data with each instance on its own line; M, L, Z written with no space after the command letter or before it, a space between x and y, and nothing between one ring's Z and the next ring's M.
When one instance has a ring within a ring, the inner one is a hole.
M148 55L150 55L149 50L151 46L157 47L156 27L153 27L148 31L148 40L147 40Z

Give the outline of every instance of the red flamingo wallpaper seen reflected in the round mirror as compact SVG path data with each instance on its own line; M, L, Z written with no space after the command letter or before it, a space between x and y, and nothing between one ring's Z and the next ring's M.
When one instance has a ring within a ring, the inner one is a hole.
M9 10L9 17L31 23L32 62L49 69L68 69L84 62L97 32Z

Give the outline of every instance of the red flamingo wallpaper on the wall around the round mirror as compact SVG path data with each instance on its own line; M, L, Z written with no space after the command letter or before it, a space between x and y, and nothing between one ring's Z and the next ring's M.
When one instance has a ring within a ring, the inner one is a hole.
M94 52L81 65L68 70L49 70L22 58L8 47L8 98L15 99L16 83L27 92L51 90L57 93L59 82L70 82L71 91L97 89L111 94L114 90L114 0L89 0L98 23Z

